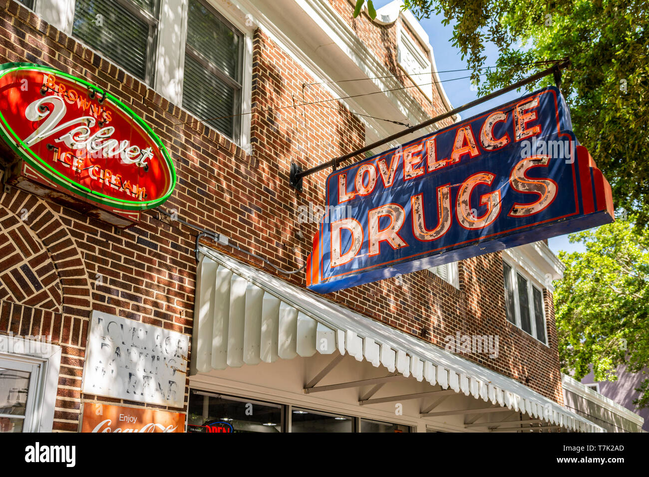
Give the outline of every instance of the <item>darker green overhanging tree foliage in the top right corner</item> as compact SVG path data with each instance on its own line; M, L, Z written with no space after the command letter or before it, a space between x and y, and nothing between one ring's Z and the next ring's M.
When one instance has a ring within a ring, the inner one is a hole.
M637 214L637 226L649 223L649 0L404 0L404 8L453 25L450 41L480 95L570 58L561 89L576 136L611 182L616 206ZM499 56L485 69L489 43Z

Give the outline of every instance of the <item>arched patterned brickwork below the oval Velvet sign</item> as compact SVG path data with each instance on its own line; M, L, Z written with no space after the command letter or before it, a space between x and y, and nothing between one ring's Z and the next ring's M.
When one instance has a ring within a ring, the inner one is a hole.
M57 208L15 188L0 198L0 332L69 343L64 319L88 315L88 273Z

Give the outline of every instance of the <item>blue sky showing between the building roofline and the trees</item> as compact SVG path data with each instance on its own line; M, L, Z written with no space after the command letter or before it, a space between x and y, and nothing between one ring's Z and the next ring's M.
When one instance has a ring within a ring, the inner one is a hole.
M390 3L391 0L374 0L374 7L380 8ZM450 39L453 36L453 25L443 25L443 17L431 16L431 18L424 18L419 23L424 28L424 31L430 37L430 44L433 47L433 55L435 56L435 64L437 70L440 71L439 77L443 82L444 90L447 93L448 99L454 108L462 104L469 103L478 97L477 92L471 90L471 82L469 79L457 79L469 76L469 71L449 71L453 69L462 69L467 67L466 58L461 59L459 49L452 45ZM485 66L493 66L496 64L498 58L498 49L495 45L487 44L485 54L487 60ZM443 71L448 71L444 73ZM474 88L475 89L475 88ZM516 92L504 94L496 99L482 103L474 108L465 110L461 113L463 118L471 117L479 112L489 110L499 104L506 103L510 99L515 99L519 96ZM561 250L568 252L585 251L582 244L569 243L568 236L559 236L551 238L548 241L550 249L556 254Z

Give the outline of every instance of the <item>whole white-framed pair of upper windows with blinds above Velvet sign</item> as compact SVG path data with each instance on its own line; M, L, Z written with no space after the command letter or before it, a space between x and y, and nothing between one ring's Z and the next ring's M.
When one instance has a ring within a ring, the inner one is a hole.
M254 24L247 17L239 23L242 12L234 3L219 5L219 12L214 0L23 3L36 5L45 21L243 149L250 147L250 116L242 113L251 111ZM60 15L68 4L73 14Z

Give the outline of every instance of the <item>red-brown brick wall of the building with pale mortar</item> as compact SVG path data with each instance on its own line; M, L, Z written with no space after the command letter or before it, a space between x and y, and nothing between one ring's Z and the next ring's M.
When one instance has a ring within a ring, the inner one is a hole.
M0 60L41 62L110 90L169 149L178 184L164 207L279 267L299 267L310 251L317 225L300 224L298 206L323 204L328 173L307 178L297 193L288 186L290 162L314 165L364 141L362 123L337 101L296 103L331 98L317 85L302 88L313 79L260 30L254 34L252 154L14 1L0 1ZM138 226L117 230L16 189L0 196L0 333L47 335L62 347L55 430L77 430L82 400L118 402L80 393L91 310L191 334L195 234L162 218L148 211ZM265 267L231 248L220 250ZM500 254L465 260L459 274L460 290L422 271L404 276L403 286L383 280L328 298L441 347L456 331L499 335L497 359L466 357L521 382L529 376L530 387L561 402L551 295L545 297L545 347L505 318ZM302 276L282 278L304 286Z

